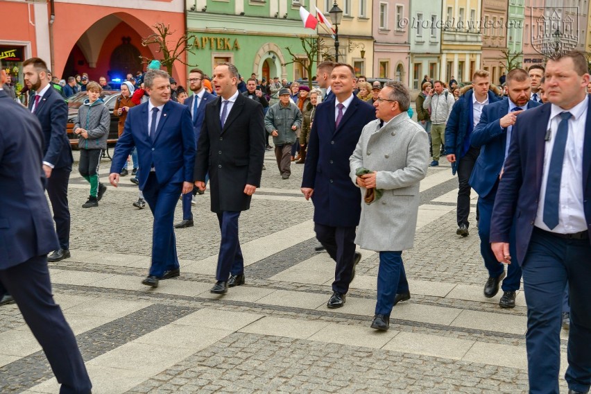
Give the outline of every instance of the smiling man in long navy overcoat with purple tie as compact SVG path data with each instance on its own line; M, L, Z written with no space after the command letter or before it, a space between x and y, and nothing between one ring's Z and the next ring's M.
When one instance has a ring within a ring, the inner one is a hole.
M320 103L310 131L302 193L314 203L316 238L336 262L327 307L345 304L349 283L361 254L355 252L355 227L361 216L361 194L349 178L349 157L363 126L375 120L375 108L353 94L355 72L336 63L331 73L334 100Z

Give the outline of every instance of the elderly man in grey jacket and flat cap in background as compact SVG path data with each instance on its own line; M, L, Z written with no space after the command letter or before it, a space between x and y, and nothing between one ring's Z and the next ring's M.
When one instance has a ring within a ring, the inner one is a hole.
M281 178L291 175L291 146L295 144L295 130L302 126L302 112L289 101L289 89L279 91L279 103L271 106L265 115L265 128L273 136L277 168Z

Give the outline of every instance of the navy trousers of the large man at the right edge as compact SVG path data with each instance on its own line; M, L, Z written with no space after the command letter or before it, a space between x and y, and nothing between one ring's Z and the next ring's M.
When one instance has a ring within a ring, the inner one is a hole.
M571 323L565 379L569 389L586 393L591 385L589 240L561 239L535 228L522 270L529 392L558 394L560 323L568 282Z

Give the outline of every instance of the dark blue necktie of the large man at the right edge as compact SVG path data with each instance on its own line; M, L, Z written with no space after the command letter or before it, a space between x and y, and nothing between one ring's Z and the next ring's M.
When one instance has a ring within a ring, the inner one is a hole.
M560 178L563 175L563 162L565 158L565 146L568 137L568 119L572 117L570 112L560 112L563 119L558 124L558 132L550 157L548 180L546 183L546 195L544 200L544 223L550 230L558 225L558 204L560 203Z

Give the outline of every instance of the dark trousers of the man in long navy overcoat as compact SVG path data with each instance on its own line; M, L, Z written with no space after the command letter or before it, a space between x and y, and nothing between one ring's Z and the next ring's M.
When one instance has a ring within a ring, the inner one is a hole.
M353 275L355 227L333 227L314 223L316 239L336 262L332 291L346 294Z

